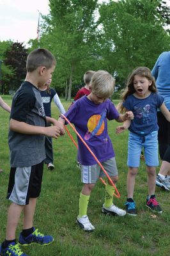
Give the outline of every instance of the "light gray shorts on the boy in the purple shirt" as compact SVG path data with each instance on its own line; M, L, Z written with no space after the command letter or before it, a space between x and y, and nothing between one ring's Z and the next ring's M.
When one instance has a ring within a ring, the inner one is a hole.
M115 157L101 163L109 177L118 175ZM96 183L99 177L105 177L105 173L99 164L82 165L81 180L84 184Z

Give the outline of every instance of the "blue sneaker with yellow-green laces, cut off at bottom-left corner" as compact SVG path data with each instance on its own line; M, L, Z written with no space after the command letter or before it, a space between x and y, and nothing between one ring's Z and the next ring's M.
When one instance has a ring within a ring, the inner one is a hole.
M28 256L19 248L19 244L12 242L8 244L7 248L2 249L2 245L0 245L0 255L1 256Z

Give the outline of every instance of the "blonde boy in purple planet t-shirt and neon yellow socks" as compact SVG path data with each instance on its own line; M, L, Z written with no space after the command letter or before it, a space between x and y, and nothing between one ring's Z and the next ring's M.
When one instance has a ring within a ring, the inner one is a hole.
M114 78L106 71L99 70L95 72L91 79L91 93L77 100L65 116L75 125L77 132L86 141L87 145L98 161L102 163L105 170L116 184L118 180L118 170L115 161L115 154L112 148L111 139L107 133L107 119L124 122L133 118L133 113L128 111L125 115L120 115L108 98L114 92ZM63 124L65 120L59 118ZM82 164L82 182L84 184L79 199L79 216L77 224L84 231L93 231L95 227L89 221L87 216L89 196L99 177L105 176L97 161L93 158L82 141L78 139L77 160ZM105 186L105 202L102 208L104 214L124 216L125 211L112 204L114 188L109 180Z

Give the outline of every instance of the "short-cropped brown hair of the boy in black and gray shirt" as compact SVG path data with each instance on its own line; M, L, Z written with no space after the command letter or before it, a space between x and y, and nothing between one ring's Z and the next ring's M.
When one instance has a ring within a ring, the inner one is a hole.
M35 49L27 56L26 68L27 72L33 72L38 67L46 67L47 69L56 66L56 58L47 49Z

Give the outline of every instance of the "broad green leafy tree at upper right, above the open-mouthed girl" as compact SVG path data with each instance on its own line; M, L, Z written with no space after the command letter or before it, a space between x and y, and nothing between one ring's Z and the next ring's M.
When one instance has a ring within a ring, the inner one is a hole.
M104 58L109 56L112 70L116 70L122 84L133 68L152 68L158 54L169 49L169 35L163 27L165 20L157 9L161 3L121 0L100 7Z

